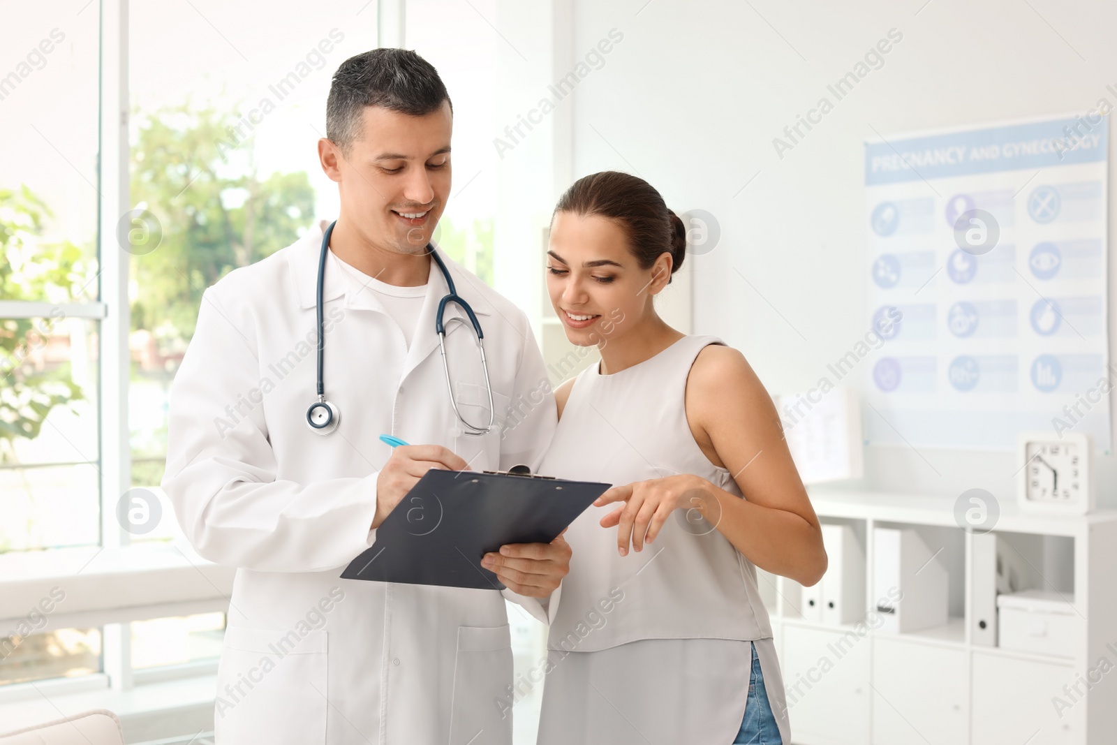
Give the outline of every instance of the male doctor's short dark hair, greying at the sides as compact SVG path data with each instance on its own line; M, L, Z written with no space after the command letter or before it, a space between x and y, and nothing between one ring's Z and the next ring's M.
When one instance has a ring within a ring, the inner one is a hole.
M326 137L342 152L361 135L365 106L426 116L450 104L435 66L407 49L372 49L350 57L334 73L326 99Z

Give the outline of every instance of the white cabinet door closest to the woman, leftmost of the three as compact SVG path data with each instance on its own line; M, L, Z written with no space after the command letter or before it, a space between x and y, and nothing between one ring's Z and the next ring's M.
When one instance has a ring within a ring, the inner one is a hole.
M780 662L796 745L869 741L869 643L851 630L784 624Z

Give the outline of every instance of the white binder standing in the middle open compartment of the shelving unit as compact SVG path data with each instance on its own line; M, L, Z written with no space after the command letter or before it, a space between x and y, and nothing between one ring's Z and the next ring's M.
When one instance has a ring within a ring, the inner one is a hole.
M884 618L880 630L906 633L946 625L946 567L919 534L911 528L877 527L872 542L872 598ZM898 601L892 600L896 596Z

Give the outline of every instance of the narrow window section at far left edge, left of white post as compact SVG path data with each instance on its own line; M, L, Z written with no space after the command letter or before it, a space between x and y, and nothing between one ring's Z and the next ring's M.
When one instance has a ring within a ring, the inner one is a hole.
M0 552L99 539L97 4L79 9L0 25Z

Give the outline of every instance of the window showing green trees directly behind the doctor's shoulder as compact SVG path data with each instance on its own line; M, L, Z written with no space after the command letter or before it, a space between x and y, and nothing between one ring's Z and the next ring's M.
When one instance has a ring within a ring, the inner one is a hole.
M130 258L133 487L163 477L168 395L202 292L336 218L317 140L331 76L376 46L375 17L366 0L131 4L130 185L160 237Z

